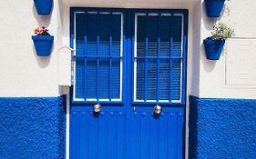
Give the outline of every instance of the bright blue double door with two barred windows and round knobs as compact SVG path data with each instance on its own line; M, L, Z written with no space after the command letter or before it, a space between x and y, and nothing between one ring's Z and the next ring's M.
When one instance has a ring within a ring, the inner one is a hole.
M187 14L71 9L72 159L184 157Z

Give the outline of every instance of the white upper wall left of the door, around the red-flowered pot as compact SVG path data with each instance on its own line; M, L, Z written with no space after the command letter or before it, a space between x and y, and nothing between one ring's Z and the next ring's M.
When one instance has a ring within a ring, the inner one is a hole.
M55 1L57 6L57 1ZM37 15L32 0L0 1L0 96L56 96L57 15ZM38 25L55 35L50 57L36 56L31 35Z

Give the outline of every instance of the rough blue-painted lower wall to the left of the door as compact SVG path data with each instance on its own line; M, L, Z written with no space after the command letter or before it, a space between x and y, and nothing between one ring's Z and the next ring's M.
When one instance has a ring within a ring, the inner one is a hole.
M66 97L0 98L0 159L65 158Z

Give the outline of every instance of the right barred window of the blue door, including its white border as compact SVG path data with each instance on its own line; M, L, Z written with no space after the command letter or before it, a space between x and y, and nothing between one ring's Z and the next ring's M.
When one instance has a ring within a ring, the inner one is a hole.
M135 14L134 103L184 103L184 15Z

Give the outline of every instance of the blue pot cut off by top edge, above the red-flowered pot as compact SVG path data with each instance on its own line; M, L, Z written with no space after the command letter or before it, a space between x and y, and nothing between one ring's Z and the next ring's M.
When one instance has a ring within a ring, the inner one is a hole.
M53 0L34 0L38 15L51 15Z

